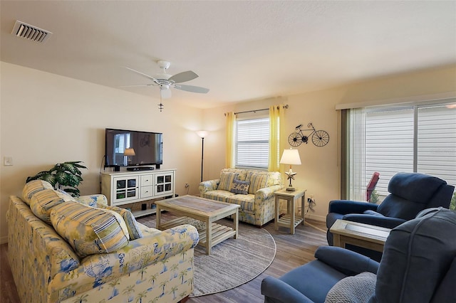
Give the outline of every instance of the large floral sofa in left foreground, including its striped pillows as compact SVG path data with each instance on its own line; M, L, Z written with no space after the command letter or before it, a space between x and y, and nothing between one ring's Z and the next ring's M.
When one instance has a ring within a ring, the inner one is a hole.
M21 302L179 302L193 290L192 225L137 223L103 195L31 181L11 196L8 259Z

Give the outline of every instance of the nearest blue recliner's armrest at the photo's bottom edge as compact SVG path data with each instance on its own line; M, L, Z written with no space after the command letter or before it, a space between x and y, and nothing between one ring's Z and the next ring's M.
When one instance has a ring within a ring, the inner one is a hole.
M311 299L275 277L265 277L261 281L261 294L264 295L264 302L267 298L274 299L274 302L284 303L313 303Z

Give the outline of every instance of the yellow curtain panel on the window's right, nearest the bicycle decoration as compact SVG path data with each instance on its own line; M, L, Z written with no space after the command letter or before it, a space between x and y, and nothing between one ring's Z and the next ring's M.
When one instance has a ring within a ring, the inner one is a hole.
M284 123L284 106L273 105L269 107L269 171L280 171L280 151L284 149L281 133L281 124Z

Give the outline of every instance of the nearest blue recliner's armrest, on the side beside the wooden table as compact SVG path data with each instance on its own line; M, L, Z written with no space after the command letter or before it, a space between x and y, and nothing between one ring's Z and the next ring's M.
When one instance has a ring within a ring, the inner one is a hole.
M380 265L370 257L336 246L320 246L315 257L345 275L358 275L361 272L373 272L376 275Z

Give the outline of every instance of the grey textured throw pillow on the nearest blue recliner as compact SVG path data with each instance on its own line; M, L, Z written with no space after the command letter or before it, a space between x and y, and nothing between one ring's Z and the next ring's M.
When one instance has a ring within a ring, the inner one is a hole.
M328 294L325 303L364 303L375 292L377 276L372 272L361 272L353 277L345 277L336 283Z

